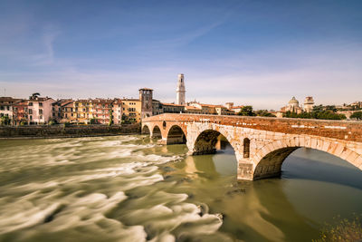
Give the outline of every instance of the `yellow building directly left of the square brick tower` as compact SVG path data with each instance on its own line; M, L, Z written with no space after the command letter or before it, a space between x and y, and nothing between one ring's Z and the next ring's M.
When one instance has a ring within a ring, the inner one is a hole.
M122 99L122 119L130 122L141 121L142 102L139 99Z

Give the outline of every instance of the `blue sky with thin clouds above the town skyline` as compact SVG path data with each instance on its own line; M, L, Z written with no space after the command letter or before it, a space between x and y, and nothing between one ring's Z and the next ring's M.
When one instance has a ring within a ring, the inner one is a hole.
M362 101L362 1L0 2L0 95Z

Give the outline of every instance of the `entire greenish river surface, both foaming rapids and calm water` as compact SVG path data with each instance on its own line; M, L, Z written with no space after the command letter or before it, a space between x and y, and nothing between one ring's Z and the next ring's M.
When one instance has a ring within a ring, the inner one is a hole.
M238 182L233 150L186 152L141 135L0 140L0 241L311 241L362 213L362 171L327 153Z

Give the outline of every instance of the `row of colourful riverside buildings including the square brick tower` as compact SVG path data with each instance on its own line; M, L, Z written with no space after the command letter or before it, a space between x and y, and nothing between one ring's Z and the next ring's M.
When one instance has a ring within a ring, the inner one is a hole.
M153 99L153 90L141 88L138 99L85 99L54 100L32 95L29 99L0 97L0 118L9 124L121 124L140 122L142 118L165 112L233 115L234 111L222 106L188 102L184 105L164 103ZM36 93L38 94L38 93Z

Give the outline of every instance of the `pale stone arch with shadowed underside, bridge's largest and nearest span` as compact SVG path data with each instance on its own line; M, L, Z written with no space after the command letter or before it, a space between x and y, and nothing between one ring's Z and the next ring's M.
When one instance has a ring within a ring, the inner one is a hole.
M338 141L322 140L319 138L300 138L277 140L270 142L262 149L256 150L253 163L252 179L266 179L281 176L281 165L284 160L299 148L310 148L325 151L342 160L346 160L358 168L356 160L362 159L357 152L350 150L346 144Z

